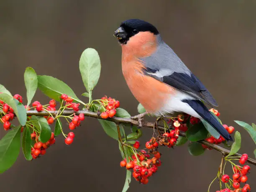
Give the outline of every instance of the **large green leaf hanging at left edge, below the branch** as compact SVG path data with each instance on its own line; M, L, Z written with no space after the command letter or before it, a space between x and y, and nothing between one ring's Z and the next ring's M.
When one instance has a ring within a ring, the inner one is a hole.
M20 152L20 128L13 128L0 140L0 173L8 170Z

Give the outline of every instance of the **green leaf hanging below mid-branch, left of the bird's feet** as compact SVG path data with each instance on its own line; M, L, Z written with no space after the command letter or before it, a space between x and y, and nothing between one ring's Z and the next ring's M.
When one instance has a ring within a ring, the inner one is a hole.
M118 131L117 131L116 124L108 120L103 120L103 119L98 119L98 120L100 121L100 124L104 129L104 131L107 133L107 135L114 138L115 140L118 140ZM120 132L122 133L123 127L120 126L119 128L120 128Z

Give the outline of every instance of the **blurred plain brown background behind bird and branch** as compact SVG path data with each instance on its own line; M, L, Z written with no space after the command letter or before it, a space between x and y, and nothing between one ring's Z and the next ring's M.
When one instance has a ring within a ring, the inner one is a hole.
M123 79L121 50L113 32L123 20L140 18L159 29L166 43L210 90L223 122L241 131L240 152L253 157L255 144L233 120L256 123L255 10L256 1L242 0L2 0L0 84L13 95L26 97L23 72L30 66L38 74L63 80L79 96L85 91L79 57L92 47L99 52L102 64L94 97L115 97L122 108L136 115L138 102ZM49 101L40 91L35 99ZM142 143L151 135L150 130L143 130ZM5 133L0 128L1 138ZM20 151L14 166L0 175L0 191L120 192L125 169L119 166L118 143L95 119L87 118L75 133L71 146L59 136L46 155L35 161L26 161ZM207 191L218 172L218 152L193 157L187 144L160 151L163 163L159 172L147 185L132 179L129 191ZM228 165L227 170L230 168ZM252 191L256 189L255 179L253 167L248 177ZM211 191L217 186L216 182Z

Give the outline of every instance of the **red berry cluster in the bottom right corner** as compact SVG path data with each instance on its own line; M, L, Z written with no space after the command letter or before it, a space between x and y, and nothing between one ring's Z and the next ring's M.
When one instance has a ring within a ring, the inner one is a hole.
M245 164L245 162L248 159L248 155L247 154L243 154L239 160L240 164ZM221 181L223 183L232 183L232 186L234 188L234 190L230 190L228 188L226 189L222 189L221 191L216 191L216 192L250 192L251 191L251 187L249 184L245 184L243 187L241 187L241 183L246 183L248 180L248 173L250 172L251 167L248 165L244 165L243 167L236 165L233 166L233 180L230 179L230 177L225 174L221 177Z

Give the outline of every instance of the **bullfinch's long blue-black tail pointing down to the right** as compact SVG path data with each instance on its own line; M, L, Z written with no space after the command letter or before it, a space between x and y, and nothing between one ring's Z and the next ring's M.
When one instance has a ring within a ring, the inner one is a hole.
M194 109L200 117L207 121L213 128L215 128L221 136L223 136L227 141L233 141L232 137L228 131L220 124L220 122L210 113L207 107L199 100L182 100L186 102L189 106Z

